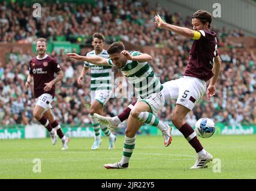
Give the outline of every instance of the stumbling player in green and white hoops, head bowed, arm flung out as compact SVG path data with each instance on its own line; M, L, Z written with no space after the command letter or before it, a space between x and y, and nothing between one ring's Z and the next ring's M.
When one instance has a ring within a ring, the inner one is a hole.
M163 124L157 118L157 113L164 106L164 95L162 85L155 77L153 70L147 61L152 60L149 54L142 54L137 51L126 51L122 42L114 42L110 45L110 58L83 57L75 53L68 53L67 56L77 60L84 60L94 64L116 66L128 78L140 95L127 121L125 130L125 141L123 156L120 162L105 164L105 168L127 168L129 159L135 147L136 132L144 123L153 125L162 131L165 146L171 143L171 133L168 125Z

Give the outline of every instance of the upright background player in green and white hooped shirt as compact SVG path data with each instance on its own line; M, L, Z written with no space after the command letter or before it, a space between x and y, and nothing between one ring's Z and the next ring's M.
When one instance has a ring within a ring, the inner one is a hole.
M92 46L94 50L86 54L88 57L100 56L103 58L109 58L109 54L103 49L105 38L101 33L94 33L92 36ZM91 68L91 107L90 114L92 117L92 126L94 127L95 140L92 145L92 150L98 149L101 144L100 129L104 134L109 137L109 149L115 147L116 136L113 135L106 125L100 124L98 119L94 117L94 113L102 113L103 107L107 103L111 94L111 66L95 65L85 61L80 77L77 79L79 84L82 83L86 73ZM101 115L101 114L100 114Z

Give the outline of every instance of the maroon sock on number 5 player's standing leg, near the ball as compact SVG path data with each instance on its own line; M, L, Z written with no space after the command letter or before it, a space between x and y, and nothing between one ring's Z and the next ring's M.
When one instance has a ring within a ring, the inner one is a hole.
M184 135L186 140L189 144L195 149L195 152L200 152L203 150L203 146L201 145L200 141L197 138L197 134L195 134L195 131L192 129L192 127L188 124L182 125L179 129L180 133Z

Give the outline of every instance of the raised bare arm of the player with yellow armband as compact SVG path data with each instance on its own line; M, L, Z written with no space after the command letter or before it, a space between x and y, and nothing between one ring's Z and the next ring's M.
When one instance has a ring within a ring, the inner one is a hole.
M185 36L187 38L194 38L194 30L188 29L186 27L175 26L173 24L165 23L159 15L155 16L155 25L158 28L171 30L179 35Z

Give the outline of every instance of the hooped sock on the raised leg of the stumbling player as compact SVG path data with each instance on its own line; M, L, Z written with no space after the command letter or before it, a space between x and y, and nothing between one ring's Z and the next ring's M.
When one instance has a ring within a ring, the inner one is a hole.
M141 122L157 127L161 132L168 128L158 119L158 117L149 112L141 112L137 119Z

